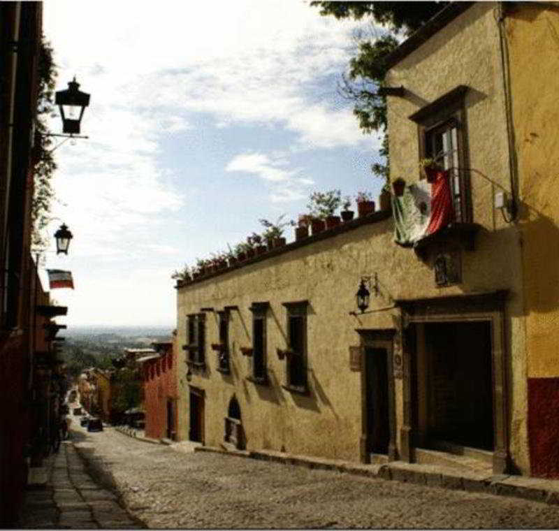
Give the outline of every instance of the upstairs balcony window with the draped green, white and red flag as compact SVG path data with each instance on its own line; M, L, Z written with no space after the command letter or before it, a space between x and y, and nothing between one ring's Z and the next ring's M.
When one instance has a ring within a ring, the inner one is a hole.
M472 221L464 110L466 92L467 87L460 85L409 117L419 127L420 159L435 159L445 170L450 170L454 217L460 223Z

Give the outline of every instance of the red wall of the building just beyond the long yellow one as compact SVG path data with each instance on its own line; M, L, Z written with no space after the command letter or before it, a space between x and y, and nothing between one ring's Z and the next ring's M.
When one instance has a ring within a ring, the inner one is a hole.
M145 435L152 439L167 437L167 400L173 400L173 426L177 430L176 357L171 344L164 356L144 363Z

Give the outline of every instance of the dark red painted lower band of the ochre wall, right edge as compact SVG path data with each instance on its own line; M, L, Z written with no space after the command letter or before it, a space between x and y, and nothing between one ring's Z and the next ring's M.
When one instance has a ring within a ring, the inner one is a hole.
M559 378L528 379L532 476L559 478Z

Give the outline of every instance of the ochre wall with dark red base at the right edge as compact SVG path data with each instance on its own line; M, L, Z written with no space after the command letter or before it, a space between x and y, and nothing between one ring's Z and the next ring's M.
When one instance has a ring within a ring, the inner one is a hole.
M532 474L559 477L559 8L514 6L507 44L521 199Z

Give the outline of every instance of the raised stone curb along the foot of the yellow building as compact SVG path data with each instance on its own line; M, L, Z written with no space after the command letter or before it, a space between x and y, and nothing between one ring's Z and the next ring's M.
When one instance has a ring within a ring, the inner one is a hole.
M335 470L364 477L388 479L428 487L463 490L470 493L486 493L498 496L518 497L532 502L559 505L559 481L525 476L498 474L476 477L475 474L456 474L448 469L393 461L383 465L363 465L351 461L297 456L275 451L228 451L215 446L200 446L194 451L223 453L285 465L303 466L315 470Z

